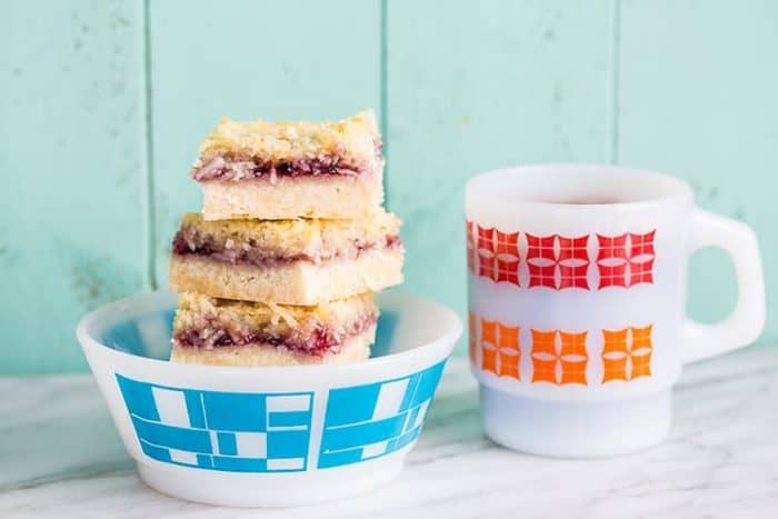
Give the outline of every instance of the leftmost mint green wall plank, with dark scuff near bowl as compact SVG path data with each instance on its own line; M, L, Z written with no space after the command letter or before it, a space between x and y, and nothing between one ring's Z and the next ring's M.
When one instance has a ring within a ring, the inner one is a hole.
M86 369L78 318L142 286L142 9L3 2L0 373Z

